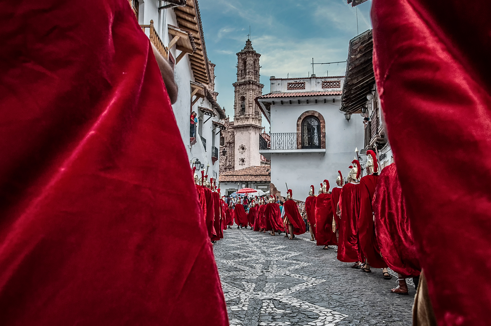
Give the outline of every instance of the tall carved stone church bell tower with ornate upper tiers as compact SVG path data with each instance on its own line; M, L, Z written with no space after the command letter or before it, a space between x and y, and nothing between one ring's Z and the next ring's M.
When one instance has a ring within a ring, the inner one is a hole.
M259 57L246 41L244 49L237 53L237 82L234 104L234 167L239 170L252 165L261 165L259 134L261 133L261 110L254 99L261 96L264 85L259 82Z

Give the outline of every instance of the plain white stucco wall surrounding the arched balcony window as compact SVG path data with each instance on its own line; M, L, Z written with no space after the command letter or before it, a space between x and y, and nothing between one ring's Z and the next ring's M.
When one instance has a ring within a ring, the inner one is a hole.
M332 98L335 103L332 103ZM321 98L318 104L313 98L310 98L309 104L305 103L305 98L301 99L300 105L296 100L291 105L286 101L281 105L279 100L275 100L275 105L271 107L271 132L296 133L300 115L307 110L317 111L326 121L326 153L272 153L271 182L282 195L286 193L286 182L293 191L293 197L304 200L310 185L317 190L327 179L332 188L338 170L343 176L348 175L355 148L363 148L364 132L363 118L359 114L353 114L348 122L339 111L340 96L327 97L326 104Z

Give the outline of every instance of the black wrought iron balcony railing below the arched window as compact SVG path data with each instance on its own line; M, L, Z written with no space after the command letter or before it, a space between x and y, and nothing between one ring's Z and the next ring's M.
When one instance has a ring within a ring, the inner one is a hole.
M260 150L325 149L326 133L273 133L271 143L260 135Z

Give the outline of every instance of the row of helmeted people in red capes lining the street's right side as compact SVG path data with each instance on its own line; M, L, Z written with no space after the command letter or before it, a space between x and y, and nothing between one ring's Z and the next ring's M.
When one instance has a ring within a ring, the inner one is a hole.
M384 279L391 279L390 267L398 273L391 292L408 295L406 278L413 278L417 287L421 267L395 163L380 172L375 152L366 154L365 176L361 177L361 164L354 160L347 182L338 171L332 190L327 180L317 196L310 186L305 213L312 241L324 250L337 245L337 259L353 263L351 268L361 272L379 268Z

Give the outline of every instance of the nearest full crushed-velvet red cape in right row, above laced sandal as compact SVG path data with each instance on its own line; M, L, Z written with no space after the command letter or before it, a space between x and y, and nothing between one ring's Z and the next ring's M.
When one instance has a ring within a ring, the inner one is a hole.
M396 164L386 166L379 177L375 196L375 230L383 259L391 270L406 277L419 275L418 254L397 177Z

